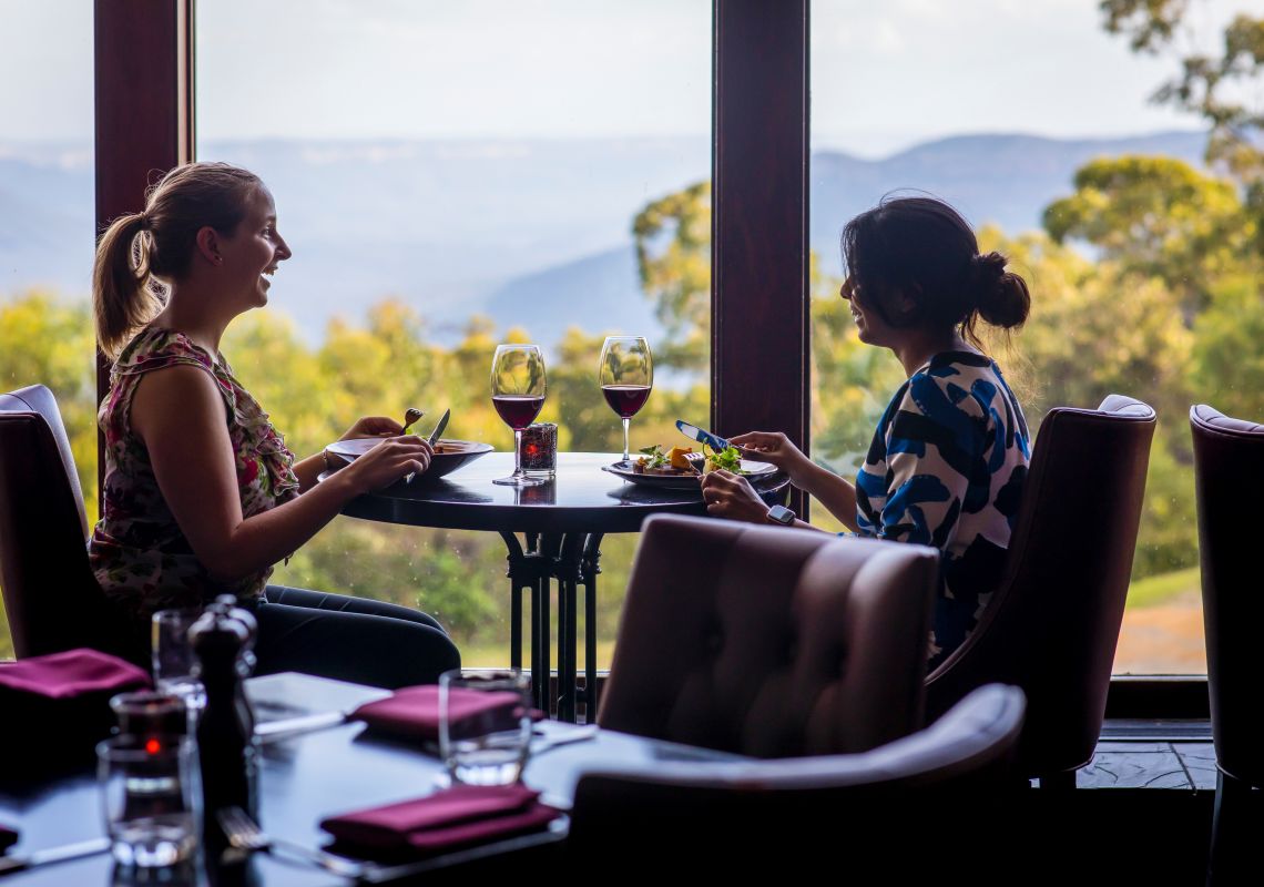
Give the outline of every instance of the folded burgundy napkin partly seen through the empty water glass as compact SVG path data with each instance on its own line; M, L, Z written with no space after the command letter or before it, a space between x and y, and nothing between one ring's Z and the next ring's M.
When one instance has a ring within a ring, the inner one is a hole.
M456 687L451 690L447 704L454 723L464 724L470 732L490 733L513 729L521 716L521 703L514 692ZM542 716L532 709L532 720ZM432 684L404 687L386 699L365 703L351 713L351 719L402 739L439 742L439 687Z

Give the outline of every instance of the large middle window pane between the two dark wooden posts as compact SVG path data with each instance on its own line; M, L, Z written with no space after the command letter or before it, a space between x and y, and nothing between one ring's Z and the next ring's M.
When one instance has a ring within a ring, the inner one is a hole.
M710 248L688 235L709 234L709 3L197 13L197 155L258 172L295 250L225 354L292 449L420 406L453 408L447 436L509 450L488 375L513 339L546 349L541 418L561 446L614 451L595 373L616 331L646 335L659 370L633 446L705 419ZM635 543L603 545L602 666ZM418 605L466 665L507 662L495 534L340 518L273 581Z

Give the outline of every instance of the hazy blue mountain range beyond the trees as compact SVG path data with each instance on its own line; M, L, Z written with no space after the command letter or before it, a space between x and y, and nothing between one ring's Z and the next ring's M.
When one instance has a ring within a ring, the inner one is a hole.
M1063 140L961 135L881 159L819 150L810 240L837 273L838 234L885 193L920 190L976 225L1016 234L1101 155L1202 163L1206 136L1159 133ZM273 308L319 341L396 297L431 339L459 340L474 313L552 346L568 326L661 332L643 297L631 226L650 201L709 176L707 139L206 142L198 155L258 172L295 251ZM83 145L0 143L0 299L32 286L85 297L92 262L92 167Z

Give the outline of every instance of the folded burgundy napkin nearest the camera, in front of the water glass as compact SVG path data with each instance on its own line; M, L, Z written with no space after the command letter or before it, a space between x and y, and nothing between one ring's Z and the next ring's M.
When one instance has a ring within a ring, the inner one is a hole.
M356 810L320 826L339 845L362 850L441 849L538 831L561 811L521 783L453 786L428 797Z

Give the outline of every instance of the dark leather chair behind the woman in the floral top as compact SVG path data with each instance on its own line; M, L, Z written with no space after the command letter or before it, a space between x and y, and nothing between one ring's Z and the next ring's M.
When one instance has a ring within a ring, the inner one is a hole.
M43 385L0 394L0 589L19 657L92 647L148 666L148 638L87 562L87 518L70 440Z

